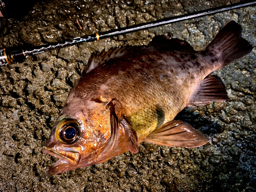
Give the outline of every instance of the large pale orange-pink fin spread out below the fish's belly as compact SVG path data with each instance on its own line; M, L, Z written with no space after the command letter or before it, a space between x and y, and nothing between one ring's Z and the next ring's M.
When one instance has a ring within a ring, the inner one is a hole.
M165 145L198 147L209 142L202 133L180 120L169 121L158 127L145 139L146 142Z

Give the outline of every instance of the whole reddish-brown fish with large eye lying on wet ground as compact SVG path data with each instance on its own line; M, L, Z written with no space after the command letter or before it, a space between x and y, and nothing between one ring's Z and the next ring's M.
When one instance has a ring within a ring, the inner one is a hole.
M229 22L204 51L169 35L147 46L94 53L71 89L43 153L58 158L48 175L103 163L150 142L199 147L209 138L176 115L188 106L228 99L210 73L242 58L252 46Z

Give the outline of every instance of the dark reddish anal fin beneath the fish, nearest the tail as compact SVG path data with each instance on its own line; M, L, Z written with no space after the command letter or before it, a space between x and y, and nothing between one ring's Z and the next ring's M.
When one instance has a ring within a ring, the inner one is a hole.
M207 104L209 102L222 102L228 99L226 90L216 77L204 79L198 89L190 96L187 106Z

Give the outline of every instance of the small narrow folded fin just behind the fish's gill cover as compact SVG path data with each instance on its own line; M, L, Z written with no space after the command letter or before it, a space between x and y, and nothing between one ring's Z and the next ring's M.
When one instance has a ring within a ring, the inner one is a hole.
M120 125L123 127L125 136L127 138L126 148L132 153L139 152L139 144L136 132L132 129L131 125L125 120L120 120Z

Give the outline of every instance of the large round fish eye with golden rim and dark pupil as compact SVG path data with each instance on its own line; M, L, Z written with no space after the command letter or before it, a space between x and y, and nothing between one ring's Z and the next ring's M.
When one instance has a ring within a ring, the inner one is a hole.
M63 143L74 143L80 135L79 123L75 119L63 119L57 124L55 135Z

